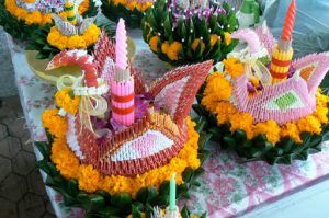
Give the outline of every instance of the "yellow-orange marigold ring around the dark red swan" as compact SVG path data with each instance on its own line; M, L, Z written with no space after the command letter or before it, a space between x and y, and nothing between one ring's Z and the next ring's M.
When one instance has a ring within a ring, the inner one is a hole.
M189 117L186 119L189 140L178 157L171 159L167 165L150 170L137 177L103 176L92 165L81 164L70 150L65 138L67 121L57 113L58 110L46 110L43 114L44 127L56 136L52 147L52 160L63 176L78 180L79 188L82 191L93 193L97 190L104 190L111 194L127 192L135 196L143 187L155 186L158 188L164 181L170 180L172 172L177 172L177 183L182 184L183 171L188 167L196 170L201 165L197 158L200 135L194 130L195 123Z

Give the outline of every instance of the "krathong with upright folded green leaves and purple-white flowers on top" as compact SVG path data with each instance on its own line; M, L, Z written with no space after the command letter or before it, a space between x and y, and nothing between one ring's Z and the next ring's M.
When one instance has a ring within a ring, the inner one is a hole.
M157 0L141 22L144 41L172 65L219 61L237 45L235 12L215 0Z

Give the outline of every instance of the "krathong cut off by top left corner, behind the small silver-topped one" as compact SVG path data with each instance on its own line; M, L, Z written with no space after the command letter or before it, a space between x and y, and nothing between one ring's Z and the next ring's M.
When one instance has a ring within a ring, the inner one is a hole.
M76 0L77 13L94 16L101 7L100 0ZM53 14L66 18L66 0L1 0L0 25L20 41L27 41L31 34L45 25L52 25Z

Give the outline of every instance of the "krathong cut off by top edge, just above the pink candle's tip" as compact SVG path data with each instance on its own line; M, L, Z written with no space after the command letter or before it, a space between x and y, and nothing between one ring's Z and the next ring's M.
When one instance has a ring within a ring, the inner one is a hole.
M144 13L155 0L102 0L102 12L111 21L117 23L120 18L125 19L131 28L140 28Z

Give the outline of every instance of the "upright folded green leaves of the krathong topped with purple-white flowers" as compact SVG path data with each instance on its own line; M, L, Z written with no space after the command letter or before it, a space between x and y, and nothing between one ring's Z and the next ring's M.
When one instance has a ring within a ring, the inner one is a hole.
M235 12L228 3L224 2L223 8L226 14L215 16L212 14L206 21L198 15L193 15L190 19L180 19L177 27L173 28L173 15L168 10L167 0L157 0L154 7L146 12L141 21L143 37L146 43L149 43L154 36L159 36L156 54L163 61L180 66L185 64L201 62L208 59L214 59L215 62L223 60L230 53L238 41L232 39L230 45L225 41L225 32L231 33L238 27L238 20ZM218 26L223 26L223 28ZM220 36L213 46L211 44L211 35ZM195 50L192 49L194 39L203 38L204 49L201 43ZM162 53L161 45L168 42L179 42L182 44L182 49L179 51L178 60L170 60L167 54Z

